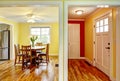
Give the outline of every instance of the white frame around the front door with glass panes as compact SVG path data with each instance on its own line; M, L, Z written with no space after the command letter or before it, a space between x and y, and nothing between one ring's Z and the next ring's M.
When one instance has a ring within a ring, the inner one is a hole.
M100 16L98 16L98 17L96 17L95 19L94 19L94 26L95 26L95 20L96 19L99 19L99 18L101 18L101 17L103 17L103 16L105 16L105 15L107 15L107 14L111 14L111 15L109 15L109 17L110 17L110 21L109 21L109 33L110 33L110 71L109 71L109 73L111 73L112 72L112 39L113 39L113 37L112 37L112 10L110 10L110 11L108 11L108 12L106 12L106 13L104 13L104 14L101 14ZM95 33L96 33L96 28L93 26L93 42L95 42L96 43L96 38L95 38ZM95 59L96 59L96 52L95 52L95 44L93 43L93 65L94 66L96 66L95 65ZM111 74L108 74L108 76L110 77L111 76Z

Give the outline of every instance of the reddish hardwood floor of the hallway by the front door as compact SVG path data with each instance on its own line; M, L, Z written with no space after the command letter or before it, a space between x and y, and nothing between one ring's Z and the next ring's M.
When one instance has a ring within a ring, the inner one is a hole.
M85 60L68 61L68 81L110 81L109 77Z

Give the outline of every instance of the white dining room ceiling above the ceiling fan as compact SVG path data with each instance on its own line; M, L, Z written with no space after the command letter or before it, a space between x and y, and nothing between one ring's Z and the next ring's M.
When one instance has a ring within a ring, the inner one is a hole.
M26 6L26 7L0 7L0 17L16 22L27 22L28 14L35 16L38 23L58 22L59 8L57 6Z

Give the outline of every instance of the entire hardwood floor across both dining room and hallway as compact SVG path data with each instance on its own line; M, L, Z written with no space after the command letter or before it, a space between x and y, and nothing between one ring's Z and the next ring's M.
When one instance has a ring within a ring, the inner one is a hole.
M48 66L40 65L31 70L14 66L14 61L0 64L0 81L58 81L58 57L50 57ZM69 60L68 81L110 81L108 76L97 68L87 64L85 60Z

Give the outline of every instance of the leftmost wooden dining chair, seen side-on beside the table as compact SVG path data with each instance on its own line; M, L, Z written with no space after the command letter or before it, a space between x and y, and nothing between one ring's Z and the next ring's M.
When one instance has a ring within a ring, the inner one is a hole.
M20 45L19 44L14 44L14 50L15 50L14 65L22 64L22 53L20 52Z

